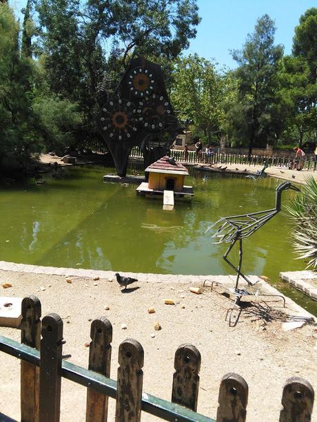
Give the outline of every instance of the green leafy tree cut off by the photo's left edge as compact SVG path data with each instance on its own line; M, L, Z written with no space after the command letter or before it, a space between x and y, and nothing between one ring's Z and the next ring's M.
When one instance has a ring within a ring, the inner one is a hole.
M22 168L41 146L32 112L32 61L20 56L19 24L0 3L0 158L1 169Z

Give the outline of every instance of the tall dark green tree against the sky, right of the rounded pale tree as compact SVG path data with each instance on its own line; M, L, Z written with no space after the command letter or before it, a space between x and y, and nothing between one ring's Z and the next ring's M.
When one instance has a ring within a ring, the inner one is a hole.
M274 45L274 21L267 14L258 19L254 33L247 36L241 51L233 51L238 63L236 103L227 110L228 132L238 143L247 140L252 148L276 141L274 118L278 63L283 47Z

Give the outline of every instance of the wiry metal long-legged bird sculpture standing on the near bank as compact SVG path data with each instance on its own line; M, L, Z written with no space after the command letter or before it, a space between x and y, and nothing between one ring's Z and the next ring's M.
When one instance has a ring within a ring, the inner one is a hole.
M283 191L287 189L293 189L294 191L300 191L298 187L291 184L291 182L283 182L278 185L276 188L276 202L275 202L275 208L272 209L266 209L264 211L256 211L255 213L247 213L247 214L240 214L240 215L231 215L229 217L223 217L220 220L218 220L214 226L218 226L218 229L216 233L212 236L213 238L218 238L218 242L215 243L230 243L229 248L225 252L225 255L223 255L223 260L231 266L234 271L236 272L236 284L233 289L229 289L231 293L233 293L236 297L236 300L234 302L234 306L240 307L240 301L241 297L244 295L252 295L252 293L249 293L248 291L245 291L244 289L238 288L238 282L239 278L242 277L245 279L247 284L249 286L253 286L255 283L251 282L246 275L244 275L241 272L242 267L242 258L243 258L243 249L242 249L242 241L244 238L249 238L255 231L260 229L266 222L271 220L271 218L274 217L278 212L280 212L281 209L281 200L282 200L282 193ZM211 229L212 226L210 226L207 230ZM227 257L232 251L234 245L236 242L239 242L239 262L238 267L234 266L232 262L230 262ZM265 295L269 296L269 295ZM283 298L283 300L285 300ZM234 307L232 308L232 310ZM240 308L241 311L241 308ZM229 312L229 310L228 310ZM240 313L238 314L238 317L240 316ZM238 322L238 317L235 321L235 324ZM227 317L226 317L227 318ZM229 317L229 324L230 324L231 314ZM231 324L230 324L231 325Z

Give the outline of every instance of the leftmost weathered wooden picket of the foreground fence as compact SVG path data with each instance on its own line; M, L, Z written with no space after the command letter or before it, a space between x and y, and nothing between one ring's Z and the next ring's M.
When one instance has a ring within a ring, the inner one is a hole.
M21 304L21 343L40 349L41 302L24 297ZM39 421L39 368L21 361L21 422Z

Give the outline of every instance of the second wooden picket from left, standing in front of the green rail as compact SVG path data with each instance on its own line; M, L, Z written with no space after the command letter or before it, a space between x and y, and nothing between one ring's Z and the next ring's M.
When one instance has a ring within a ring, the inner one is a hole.
M55 313L42 319L39 392L40 422L59 422L63 321Z

